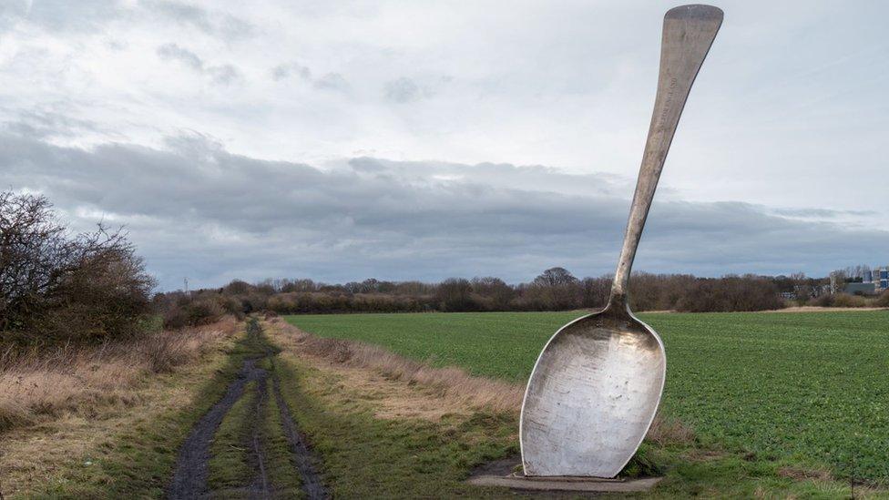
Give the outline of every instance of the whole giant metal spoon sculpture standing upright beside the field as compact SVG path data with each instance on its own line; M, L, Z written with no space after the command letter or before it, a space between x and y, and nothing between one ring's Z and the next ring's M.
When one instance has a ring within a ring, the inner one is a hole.
M722 24L710 5L664 16L658 95L608 306L563 326L528 381L520 440L529 476L614 477L658 411L667 357L658 333L629 311L639 237L691 84Z

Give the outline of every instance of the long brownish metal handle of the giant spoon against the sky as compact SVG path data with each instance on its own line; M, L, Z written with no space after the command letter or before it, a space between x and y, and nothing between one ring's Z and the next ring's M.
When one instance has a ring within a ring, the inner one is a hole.
M636 194L629 210L624 246L620 250L618 270L611 286L612 302L627 299L629 272L636 258L645 219L649 215L651 199L654 199L654 191L658 188L669 144L679 125L691 84L698 76L700 65L721 24L722 11L710 5L682 5L664 15L658 96L654 102L642 166L639 168Z

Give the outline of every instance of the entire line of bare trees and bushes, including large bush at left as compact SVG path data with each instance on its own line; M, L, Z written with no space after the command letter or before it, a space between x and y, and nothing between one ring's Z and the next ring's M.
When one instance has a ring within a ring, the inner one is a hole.
M859 270L849 270L846 275ZM835 281L835 280L834 280ZM830 280L745 274L699 278L637 272L635 311L762 311L795 304L889 306L829 293ZM217 289L155 293L126 232L99 224L72 233L42 196L0 192L0 341L95 341L137 335L162 320L181 328L250 312L280 314L423 311L567 311L608 302L611 275L577 278L554 267L510 284L487 276L440 282L368 279L330 284L309 279L235 280Z

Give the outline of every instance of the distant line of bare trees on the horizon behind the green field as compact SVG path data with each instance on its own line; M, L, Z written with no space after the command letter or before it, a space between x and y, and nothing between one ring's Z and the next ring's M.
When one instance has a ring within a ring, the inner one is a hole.
M602 308L611 291L610 275L578 279L564 268L544 270L533 281L508 284L496 277L423 281L369 279L343 284L309 279L259 283L235 280L212 290L173 291L155 297L167 311L167 324L194 321L207 311L273 311L278 314L345 312L568 311ZM806 278L747 274L698 278L689 274L633 275L629 297L634 311L763 311L785 306L782 287Z

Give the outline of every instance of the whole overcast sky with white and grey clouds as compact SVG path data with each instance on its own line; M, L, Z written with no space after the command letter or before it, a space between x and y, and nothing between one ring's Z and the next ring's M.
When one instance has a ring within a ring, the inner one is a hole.
M889 3L714 4L635 269L889 261ZM0 189L162 289L598 276L674 5L0 0Z

